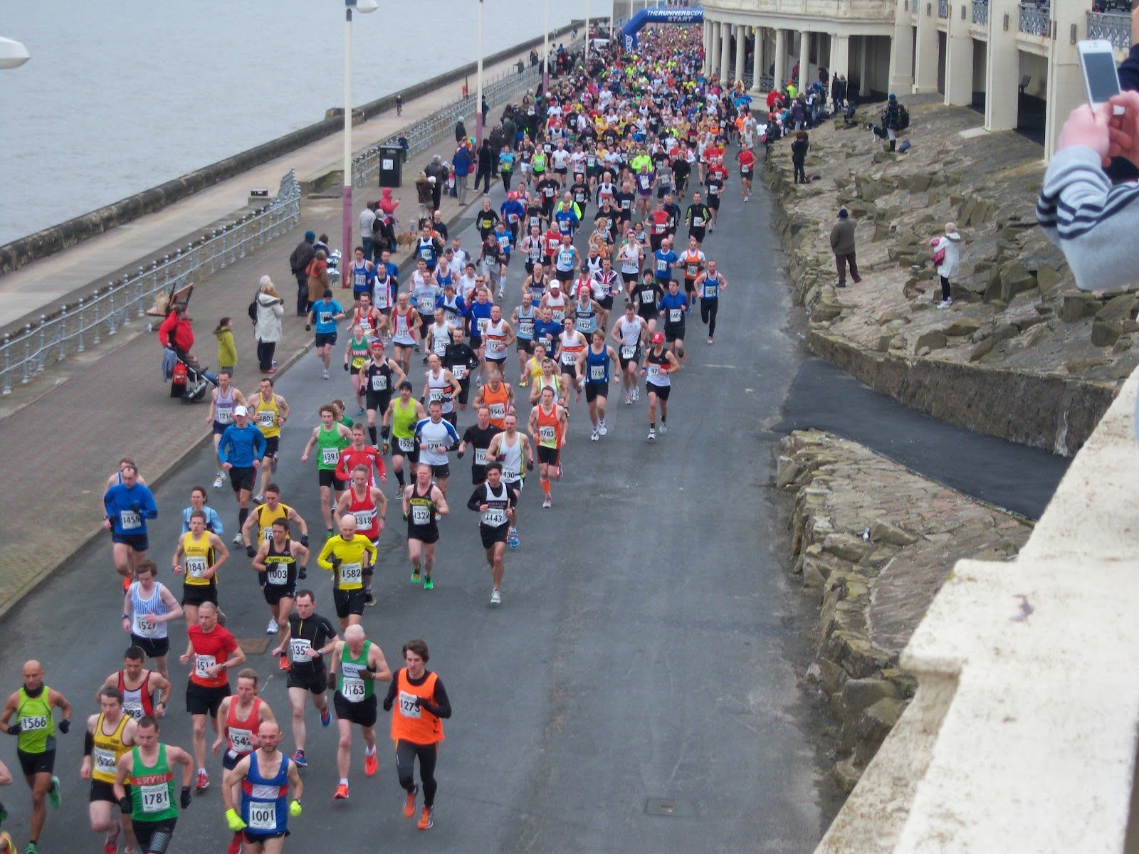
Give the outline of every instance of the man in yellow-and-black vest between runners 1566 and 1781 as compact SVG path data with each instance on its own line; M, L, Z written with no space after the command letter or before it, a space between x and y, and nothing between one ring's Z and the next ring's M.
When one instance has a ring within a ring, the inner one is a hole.
M123 714L123 695L117 688L104 685L99 689L98 698L100 711L87 718L83 762L79 775L81 780L91 781L91 803L88 806L91 830L106 834L104 854L115 854L118 851L120 830L126 838L126 848L134 847L130 810L121 811L118 821L115 821L112 810L118 806L118 798L115 797L118 759L134 744L136 724L130 715Z

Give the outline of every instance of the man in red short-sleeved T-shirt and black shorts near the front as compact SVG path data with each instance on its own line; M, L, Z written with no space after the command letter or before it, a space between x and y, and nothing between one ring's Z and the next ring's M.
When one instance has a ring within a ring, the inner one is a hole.
M191 625L187 634L186 652L178 660L190 665L186 711L194 721L194 758L198 766L195 788L202 791L210 788L210 774L206 773L206 716L210 717L213 731L218 732L218 709L221 701L230 696L229 671L245 664L245 652L229 630L218 625L218 606L211 601L198 606L197 625ZM142 721L139 721L139 729L142 728Z

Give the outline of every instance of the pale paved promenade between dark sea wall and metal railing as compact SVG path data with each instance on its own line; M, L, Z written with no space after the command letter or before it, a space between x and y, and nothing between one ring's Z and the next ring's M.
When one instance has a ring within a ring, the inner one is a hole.
M509 59L487 66L483 69L484 79L507 72L519 59L525 60L527 57L528 50L519 51ZM426 118L453 102L459 97L460 87L461 83L454 82L409 100L403 105L401 116L388 110L357 125L352 130L353 147L357 150L369 148ZM474 121L470 116L468 118L468 130L474 133ZM100 282L121 278L126 272L133 273L144 258L182 247L188 235L199 235L219 220L228 219L235 211L244 208L252 189L267 188L270 192L276 192L281 175L290 169L295 169L298 176L326 166L331 169L335 164L343 163L343 151L344 134L334 133L175 202L162 211L0 277L0 328L28 314L38 318L48 306L77 298L90 293ZM407 174L403 178L407 184L403 194L409 195L410 188L411 202L415 203L415 188L411 187L415 174L412 173L411 180ZM357 194L358 198L366 198L361 190ZM362 206L361 203L359 207ZM407 211L408 206L403 210ZM330 235L339 235L337 223L330 223L327 230Z

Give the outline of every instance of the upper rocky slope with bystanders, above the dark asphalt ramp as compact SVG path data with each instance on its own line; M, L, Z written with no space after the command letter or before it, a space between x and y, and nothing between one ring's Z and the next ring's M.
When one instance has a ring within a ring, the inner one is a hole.
M906 99L906 154L859 124L811 131L808 174L792 182L789 146L767 181L782 213L788 271L814 352L867 385L952 424L1073 454L1139 364L1139 293L1076 289L1036 225L1039 145L988 133L982 116L931 97ZM858 222L863 280L835 288L829 233L841 206ZM937 310L929 238L961 233L953 305Z

